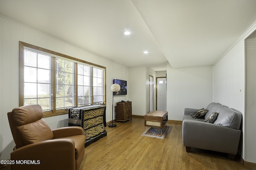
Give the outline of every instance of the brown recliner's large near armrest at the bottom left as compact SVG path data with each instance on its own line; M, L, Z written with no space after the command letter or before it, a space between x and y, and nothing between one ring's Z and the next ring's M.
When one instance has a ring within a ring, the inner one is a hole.
M25 154L24 154L25 153ZM75 170L75 143L71 139L52 139L32 143L11 152L12 170ZM24 164L24 160L29 160Z

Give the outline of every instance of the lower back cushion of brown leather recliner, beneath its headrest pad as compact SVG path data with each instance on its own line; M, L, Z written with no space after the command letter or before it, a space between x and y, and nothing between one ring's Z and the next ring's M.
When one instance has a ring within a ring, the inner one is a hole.
M44 119L18 126L17 129L20 132L22 141L25 145L53 139L52 130L46 124Z

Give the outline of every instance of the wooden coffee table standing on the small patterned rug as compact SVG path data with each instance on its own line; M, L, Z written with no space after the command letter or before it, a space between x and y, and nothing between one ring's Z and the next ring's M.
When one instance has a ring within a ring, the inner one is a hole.
M158 127L162 128L166 125L168 121L168 111L150 111L144 115L144 125L146 127Z

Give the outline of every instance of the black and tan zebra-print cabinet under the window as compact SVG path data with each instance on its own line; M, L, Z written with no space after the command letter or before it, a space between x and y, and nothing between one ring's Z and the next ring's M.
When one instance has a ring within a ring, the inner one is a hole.
M106 106L92 105L70 108L68 126L80 126L86 137L84 147L107 135Z

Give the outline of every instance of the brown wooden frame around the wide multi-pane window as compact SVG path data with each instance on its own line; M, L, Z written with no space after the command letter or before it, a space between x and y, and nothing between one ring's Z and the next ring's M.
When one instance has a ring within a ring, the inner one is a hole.
M77 99L77 87L78 87L77 86L77 62L86 64L86 65L89 65L89 66L92 66L92 67L102 68L104 70L104 73L103 73L103 76L104 76L103 77L103 79L104 79L104 87L103 87L104 88L104 103L103 104L106 105L106 67L100 66L98 64L90 63L90 62L87 62L87 61L84 61L84 60L81 60L81 59L76 59L76 58L68 56L68 55L64 55L64 54L61 54L61 53L57 53L55 51L51 51L51 50L48 50L48 49L44 49L42 47L38 47L38 46L35 46L35 45L31 45L31 44L19 41L19 49L20 49L20 52L19 52L19 58L20 58L20 61L19 61L19 106L24 105L24 47L28 47L28 48L35 49L35 50L38 50L38 51L42 51L44 53L52 54L54 56L59 56L59 57L63 57L63 58L74 61L74 63L75 63L75 80L76 80L75 81L76 106L78 106L78 99ZM56 68L55 68L54 64L53 64L52 74L56 75ZM93 77L93 73L92 73L91 77ZM53 84L52 84L53 87L55 87L54 84L55 84L55 81L53 81ZM91 81L91 88L92 88L91 105L93 105L93 80ZM56 95L56 88L53 88L53 97L54 97L54 95ZM51 111L44 111L44 117L63 115L63 114L67 114L67 113L68 113L68 110L66 110L66 109L56 110L56 104L55 104L55 102L53 102L53 109Z

